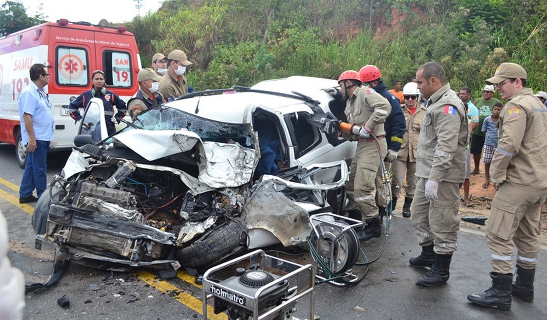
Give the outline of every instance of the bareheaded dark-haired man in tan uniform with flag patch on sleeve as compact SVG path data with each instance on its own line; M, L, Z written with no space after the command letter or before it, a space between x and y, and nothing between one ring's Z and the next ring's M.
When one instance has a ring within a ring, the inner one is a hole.
M412 200L412 224L422 253L410 265L429 271L418 284L438 286L450 277L452 253L459 229L459 186L465 179L468 125L465 107L445 84L438 62L418 68L416 82L428 100L423 117L416 162L418 182Z

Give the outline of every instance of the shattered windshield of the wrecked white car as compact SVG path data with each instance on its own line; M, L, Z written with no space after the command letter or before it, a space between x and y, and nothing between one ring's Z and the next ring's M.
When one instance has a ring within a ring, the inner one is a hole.
M237 143L254 149L254 133L249 123L214 121L167 106L143 112L134 123L143 129L154 131L188 129L199 135L202 141Z

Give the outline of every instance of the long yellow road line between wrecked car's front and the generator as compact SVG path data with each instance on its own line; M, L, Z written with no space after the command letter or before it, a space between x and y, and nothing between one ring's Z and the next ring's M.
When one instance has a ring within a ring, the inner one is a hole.
M181 291L181 289L171 285L171 283L168 283L162 280L156 280L154 275L148 271L139 271L137 272L136 275L139 279L148 283L148 285L158 289L159 291L163 293L168 294L171 292L179 292L179 294L173 296L173 299L177 300L179 303L184 304L185 306L189 307L190 309L194 310L200 315L203 315L203 307L202 307L201 299L197 299L193 295ZM213 320L228 319L228 316L226 316L224 313L219 313L218 315L215 315L213 313L213 307L209 305L207 306L207 315L209 316L210 319L213 319Z

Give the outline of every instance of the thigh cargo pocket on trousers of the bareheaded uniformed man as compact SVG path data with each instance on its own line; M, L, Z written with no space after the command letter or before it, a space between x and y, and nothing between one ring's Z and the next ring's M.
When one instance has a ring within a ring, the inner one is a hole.
M458 230L459 199L435 200L433 208L429 210L429 226L433 232Z

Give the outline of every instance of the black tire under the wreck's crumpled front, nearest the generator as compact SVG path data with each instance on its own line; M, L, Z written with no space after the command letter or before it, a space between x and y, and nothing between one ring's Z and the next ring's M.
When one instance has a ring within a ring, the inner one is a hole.
M236 251L246 241L247 228L240 222L232 221L220 226L211 234L195 241L188 247L175 252L178 262L189 268L199 268L219 262Z

